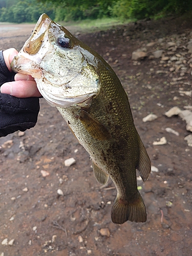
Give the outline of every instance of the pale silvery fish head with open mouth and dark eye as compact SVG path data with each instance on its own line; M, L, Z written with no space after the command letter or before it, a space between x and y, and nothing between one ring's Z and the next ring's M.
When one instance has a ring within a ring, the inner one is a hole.
M99 93L98 58L92 51L42 14L11 69L34 77L48 103L66 108Z

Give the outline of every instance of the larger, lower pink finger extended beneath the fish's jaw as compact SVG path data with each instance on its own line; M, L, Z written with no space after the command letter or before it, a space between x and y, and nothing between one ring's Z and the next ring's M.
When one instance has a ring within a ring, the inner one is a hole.
M1 93L10 94L18 98L40 97L35 81L6 82L1 87Z

